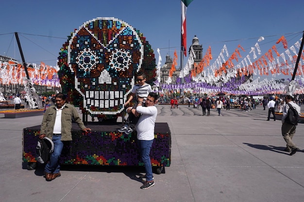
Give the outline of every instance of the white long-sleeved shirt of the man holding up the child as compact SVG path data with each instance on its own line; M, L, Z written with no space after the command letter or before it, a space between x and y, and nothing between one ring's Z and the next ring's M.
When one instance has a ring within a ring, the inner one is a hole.
M155 106L136 108L138 113L141 113L136 124L137 139L138 140L153 140L154 126L157 116L157 108Z

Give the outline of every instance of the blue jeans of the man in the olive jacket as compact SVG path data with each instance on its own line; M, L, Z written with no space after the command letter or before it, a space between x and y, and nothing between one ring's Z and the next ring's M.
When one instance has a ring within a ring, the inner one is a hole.
M59 156L63 148L63 142L61 141L61 135L53 136L52 141L54 143L54 151L51 154L50 161L45 166L46 172L58 173L60 170Z

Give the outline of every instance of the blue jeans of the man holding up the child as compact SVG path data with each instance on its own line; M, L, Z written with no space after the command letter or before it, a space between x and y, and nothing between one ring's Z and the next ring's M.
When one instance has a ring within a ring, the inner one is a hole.
M140 149L141 160L145 164L147 181L152 181L152 165L150 159L150 151L154 140L137 140Z

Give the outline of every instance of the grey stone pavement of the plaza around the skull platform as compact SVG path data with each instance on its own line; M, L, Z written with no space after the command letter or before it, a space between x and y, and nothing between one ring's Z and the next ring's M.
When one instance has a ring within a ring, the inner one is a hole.
M141 167L63 166L51 182L43 170L22 169L22 129L42 116L5 119L0 114L0 202L303 202L304 124L295 155L284 152L281 121L268 110L157 105L157 122L171 130L171 165L142 190ZM304 110L302 110L304 111Z

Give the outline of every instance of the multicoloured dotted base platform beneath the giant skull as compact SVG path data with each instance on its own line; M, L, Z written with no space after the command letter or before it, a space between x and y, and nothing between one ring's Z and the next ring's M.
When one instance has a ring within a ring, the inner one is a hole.
M126 135L118 132L121 125L88 122L91 132L83 132L73 123L72 141L65 141L61 164L143 166L136 139L136 131ZM36 145L40 125L23 129L23 162L36 162ZM153 167L167 167L171 163L171 133L167 123L155 123L151 149Z

